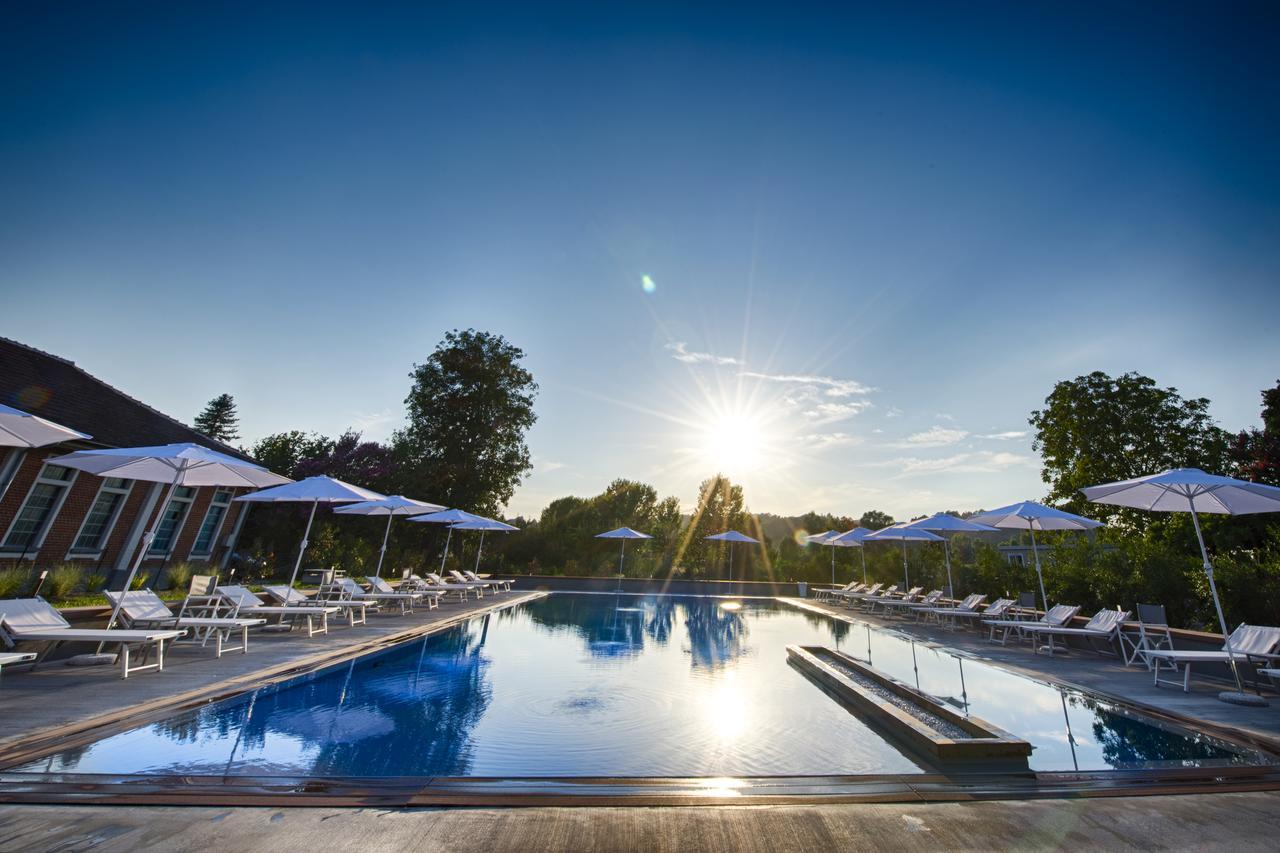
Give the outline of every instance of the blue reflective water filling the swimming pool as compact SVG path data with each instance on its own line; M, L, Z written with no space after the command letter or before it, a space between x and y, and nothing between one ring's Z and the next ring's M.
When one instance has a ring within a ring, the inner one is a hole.
M1034 744L1034 770L1265 763L782 602L557 593L9 772L758 776L927 768L787 663L831 646Z

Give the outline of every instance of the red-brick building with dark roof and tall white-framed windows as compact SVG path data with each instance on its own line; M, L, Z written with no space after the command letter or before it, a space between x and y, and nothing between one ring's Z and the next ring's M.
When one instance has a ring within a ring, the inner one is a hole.
M0 402L92 435L36 450L0 447L0 566L83 565L119 584L142 534L163 512L142 571L189 561L225 566L248 489L180 488L168 507L165 483L101 478L49 464L52 456L92 447L193 442L247 459L221 442L92 377L73 361L0 338Z

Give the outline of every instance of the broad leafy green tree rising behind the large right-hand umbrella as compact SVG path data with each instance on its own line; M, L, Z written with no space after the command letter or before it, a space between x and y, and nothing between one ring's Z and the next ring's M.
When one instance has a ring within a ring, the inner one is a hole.
M1226 433L1213 424L1208 400L1184 400L1137 373L1108 377L1094 371L1059 382L1032 412L1033 448L1043 460L1041 476L1050 500L1080 512L1079 489L1126 480L1170 467L1226 469ZM1091 514L1105 510L1089 505ZM1144 526L1146 516L1120 514Z

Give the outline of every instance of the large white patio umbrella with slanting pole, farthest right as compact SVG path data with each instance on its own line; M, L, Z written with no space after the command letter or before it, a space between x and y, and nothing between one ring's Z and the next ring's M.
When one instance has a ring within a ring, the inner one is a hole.
M1235 676L1236 692L1222 692L1219 698L1236 704L1266 704L1262 697L1245 693L1244 684L1240 681L1240 671L1235 663L1235 654L1231 652L1231 631L1226 629L1222 602L1217 597L1213 564L1208 558L1208 548L1204 547L1199 514L1280 512L1280 488L1206 474L1198 467L1175 467L1133 480L1091 485L1080 492L1094 503L1111 503L1155 512L1190 512L1196 539L1201 547L1201 560L1204 562L1204 575L1208 578L1208 590L1213 596L1213 608L1217 611L1217 624L1226 640L1226 657L1231 662L1231 674Z

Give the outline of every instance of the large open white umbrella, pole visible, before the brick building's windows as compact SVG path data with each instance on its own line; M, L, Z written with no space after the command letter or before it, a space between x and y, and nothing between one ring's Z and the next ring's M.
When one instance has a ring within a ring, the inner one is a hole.
M289 483L289 478L274 474L256 462L248 462L227 453L209 450L200 444L159 444L154 447L108 447L102 450L76 451L65 456L49 460L54 465L74 467L97 476L118 476L127 480L143 480L148 483L168 483L160 511L156 514L151 528L142 534L142 546L138 548L129 575L124 580L124 590L133 587L133 578L138 574L138 567L151 549L151 542L156 538L156 530L164 519L165 508L173 500L173 493L178 487L221 485L229 488L262 488L264 485L276 485ZM106 628L110 630L120 615L120 606L124 596L111 608L111 619ZM102 647L99 646L99 653Z

